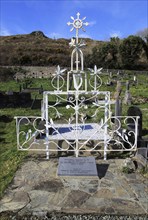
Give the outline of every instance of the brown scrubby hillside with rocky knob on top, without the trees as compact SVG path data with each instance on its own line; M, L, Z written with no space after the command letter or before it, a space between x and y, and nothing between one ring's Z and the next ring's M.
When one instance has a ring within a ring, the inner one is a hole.
M89 53L99 41L85 39L87 47L85 53ZM58 65L69 66L70 39L47 38L42 32L32 32L26 35L0 37L1 59L0 65L28 65L46 66Z

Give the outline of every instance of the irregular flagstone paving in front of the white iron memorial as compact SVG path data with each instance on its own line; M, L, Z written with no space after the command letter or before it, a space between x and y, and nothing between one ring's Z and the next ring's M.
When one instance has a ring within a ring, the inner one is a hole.
M147 179L121 172L123 160L96 160L98 176L59 177L58 159L28 160L0 201L0 213L146 215Z

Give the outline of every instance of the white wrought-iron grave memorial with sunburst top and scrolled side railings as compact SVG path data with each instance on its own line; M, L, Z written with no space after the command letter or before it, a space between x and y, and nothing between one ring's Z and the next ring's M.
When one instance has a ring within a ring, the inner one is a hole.
M57 67L51 80L52 91L43 92L41 116L16 116L17 147L26 151L74 152L78 157L84 152L103 152L107 159L110 151L136 151L138 117L112 116L109 91L101 91L102 68L84 71L83 40L79 30L84 30L86 17L71 17L71 68ZM65 75L67 74L67 80ZM103 117L101 118L101 116ZM128 130L132 124L133 129Z

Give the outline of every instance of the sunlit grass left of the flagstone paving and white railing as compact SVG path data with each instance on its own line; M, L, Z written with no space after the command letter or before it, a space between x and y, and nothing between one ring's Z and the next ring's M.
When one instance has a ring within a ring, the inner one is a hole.
M0 109L0 115L7 116L8 120L0 121L0 197L2 197L15 171L27 156L27 152L17 150L14 116L40 115L40 110L6 108Z

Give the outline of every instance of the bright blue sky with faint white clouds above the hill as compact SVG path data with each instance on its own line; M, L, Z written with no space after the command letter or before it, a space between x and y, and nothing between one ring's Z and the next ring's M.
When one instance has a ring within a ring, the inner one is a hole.
M43 31L50 38L71 38L67 22L86 16L90 25L81 37L108 40L148 27L148 0L0 0L0 35Z

